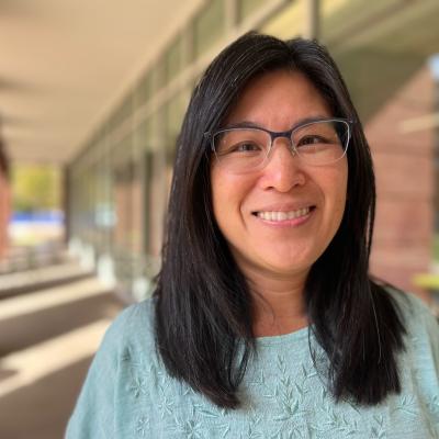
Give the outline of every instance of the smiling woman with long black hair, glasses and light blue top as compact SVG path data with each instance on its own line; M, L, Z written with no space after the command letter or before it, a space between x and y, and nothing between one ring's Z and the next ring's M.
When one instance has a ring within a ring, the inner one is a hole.
M374 205L327 52L225 48L183 121L154 299L109 329L67 437L439 437L439 329L368 275Z

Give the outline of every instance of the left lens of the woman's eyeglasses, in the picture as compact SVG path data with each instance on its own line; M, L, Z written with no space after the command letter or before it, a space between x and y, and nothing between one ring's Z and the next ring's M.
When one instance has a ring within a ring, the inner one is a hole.
M213 137L218 161L233 172L245 172L261 165L270 142L270 135L257 128L224 130Z

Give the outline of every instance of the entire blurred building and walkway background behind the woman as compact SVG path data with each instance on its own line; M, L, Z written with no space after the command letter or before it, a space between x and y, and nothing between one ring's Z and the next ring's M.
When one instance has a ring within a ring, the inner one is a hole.
M150 294L191 90L248 30L327 45L375 164L371 271L437 312L438 21L437 0L0 0L0 437L63 437Z

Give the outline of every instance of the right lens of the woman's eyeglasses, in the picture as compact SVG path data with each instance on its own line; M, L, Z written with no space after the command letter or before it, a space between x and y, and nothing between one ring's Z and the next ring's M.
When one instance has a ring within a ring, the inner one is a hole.
M349 143L349 124L345 121L320 121L292 133L299 156L309 165L328 165L339 160Z

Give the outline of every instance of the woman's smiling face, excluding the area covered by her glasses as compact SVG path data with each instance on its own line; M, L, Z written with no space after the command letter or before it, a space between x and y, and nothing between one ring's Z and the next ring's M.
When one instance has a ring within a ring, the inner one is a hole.
M279 70L250 82L225 126L251 123L283 132L308 117L330 116L305 76ZM213 159L211 179L216 222L243 272L290 278L306 275L334 238L345 210L348 164L344 157L304 165L286 138L277 138L262 169L236 173ZM282 219L286 215L290 219Z

